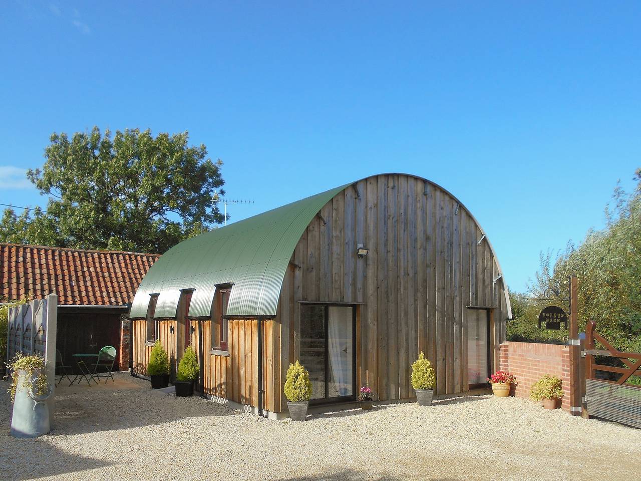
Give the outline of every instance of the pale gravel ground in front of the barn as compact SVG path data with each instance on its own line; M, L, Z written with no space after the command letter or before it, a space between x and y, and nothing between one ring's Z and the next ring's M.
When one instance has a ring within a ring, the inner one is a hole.
M641 430L478 396L267 421L143 380L60 389L51 434L9 435L0 382L0 479L635 480Z

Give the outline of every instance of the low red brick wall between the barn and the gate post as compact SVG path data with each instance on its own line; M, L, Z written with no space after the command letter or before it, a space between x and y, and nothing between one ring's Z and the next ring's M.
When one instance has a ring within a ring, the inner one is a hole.
M563 410L570 410L570 350L561 344L503 342L499 350L499 369L517 376L513 388L517 398L529 399L529 389L544 374L559 376L565 392Z

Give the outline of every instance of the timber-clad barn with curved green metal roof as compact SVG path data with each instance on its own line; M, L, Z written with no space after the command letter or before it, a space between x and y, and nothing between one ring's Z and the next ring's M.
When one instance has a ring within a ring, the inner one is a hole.
M494 249L469 210L418 176L380 174L183 241L131 306L133 373L156 339L172 378L188 345L198 389L278 416L290 362L312 403L413 398L423 351L437 394L468 392L497 365L512 316Z

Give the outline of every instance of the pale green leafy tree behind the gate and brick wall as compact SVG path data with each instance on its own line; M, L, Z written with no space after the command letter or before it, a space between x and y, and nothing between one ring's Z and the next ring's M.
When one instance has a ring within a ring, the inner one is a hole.
M575 274L579 328L595 321L599 332L620 350L641 351L641 169L635 180L637 187L631 194L618 186L615 189L612 205L606 208L606 228L588 232L579 246L568 244L554 264L550 253L542 255L528 296L512 295L519 308L526 308L508 323L510 339L525 340L519 336L528 334L540 337L540 330L528 333L543 307L536 299L567 300L568 278ZM556 335L563 338L563 332Z

